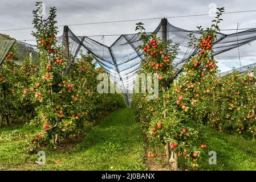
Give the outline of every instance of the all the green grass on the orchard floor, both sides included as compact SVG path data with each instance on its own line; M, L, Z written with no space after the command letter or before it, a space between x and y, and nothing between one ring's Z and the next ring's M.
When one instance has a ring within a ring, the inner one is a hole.
M128 108L117 109L101 118L82 138L69 140L64 147L43 148L46 165L36 164L36 154L25 148L38 130L16 125L0 130L0 169L2 170L147 170L166 169L163 163L147 159L147 144L139 124ZM198 170L255 170L256 142L238 134L205 130L209 139L206 155ZM217 164L208 163L209 151L216 151ZM161 151L162 152L162 151ZM159 165L157 167L157 165ZM192 169L180 162L181 169Z

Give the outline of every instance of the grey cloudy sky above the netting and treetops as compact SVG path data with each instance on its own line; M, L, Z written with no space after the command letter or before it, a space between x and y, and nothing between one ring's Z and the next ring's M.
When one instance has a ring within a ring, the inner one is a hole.
M0 30L28 28L32 27L32 10L35 9L36 1L20 0L1 0L0 6ZM146 19L161 18L179 15L208 14L210 3L215 3L217 7L225 7L226 12L256 10L255 1L221 1L221 0L203 0L203 1L173 1L173 0L112 0L112 1L88 1L88 0L44 0L46 11L55 6L57 11L57 20L59 25L108 22L115 20L128 19ZM236 28L240 23L240 28L256 27L256 12L226 14L223 16L224 22L221 23L222 29ZM196 30L196 26L210 26L213 17L195 16L184 18L168 18L168 21L174 26L187 30ZM109 35L109 34L130 34L135 32L134 22L89 24L83 26L70 26L70 29L76 35ZM147 31L153 31L160 23L160 19L143 20ZM63 27L59 27L59 35L62 34ZM34 39L31 36L31 30L0 31L9 34L17 40ZM231 33L234 31L225 31ZM110 45L117 36L106 36L105 44ZM101 38L94 38L103 42ZM27 43L34 44L33 41Z

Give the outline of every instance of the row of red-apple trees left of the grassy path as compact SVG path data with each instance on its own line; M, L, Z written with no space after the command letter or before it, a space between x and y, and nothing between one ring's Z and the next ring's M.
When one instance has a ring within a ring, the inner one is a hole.
M15 47L0 68L0 118L1 123L31 121L39 131L28 144L28 151L61 142L70 135L86 130L90 122L105 110L124 106L121 94L99 94L96 90L96 68L90 54L80 54L63 75L68 64L62 47L56 46L56 10L52 8L48 19L42 20L34 13L33 32L38 40L39 61L25 59L21 66ZM52 141L52 142L51 142Z

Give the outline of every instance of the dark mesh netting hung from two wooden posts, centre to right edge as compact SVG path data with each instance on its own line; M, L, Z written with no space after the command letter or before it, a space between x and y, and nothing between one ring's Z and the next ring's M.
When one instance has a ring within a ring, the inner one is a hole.
M162 24L155 30L156 35L162 36ZM173 26L167 22L166 38L172 39L173 43L180 44L178 56L174 60L177 71L182 68L182 64L189 60L190 56L196 55L198 49L189 47L189 34L193 33L197 38L201 36L199 31L188 31ZM62 39L64 41L64 35ZM235 34L222 34L217 32L217 41L214 43L214 58L218 61L218 66L224 75L233 68L245 67L246 65L255 66L256 53L256 29L238 32ZM95 60L101 67L109 73L111 79L121 88L127 104L131 102L131 93L134 87L136 73L140 69L143 60L143 51L138 50L141 44L140 35L128 34L121 35L111 46L105 46L87 36L75 36L68 29L68 42L70 52L73 55L66 71L70 69L72 61L79 51L89 51L94 55ZM255 63L255 64L254 64Z

